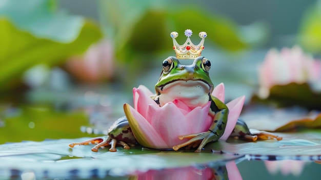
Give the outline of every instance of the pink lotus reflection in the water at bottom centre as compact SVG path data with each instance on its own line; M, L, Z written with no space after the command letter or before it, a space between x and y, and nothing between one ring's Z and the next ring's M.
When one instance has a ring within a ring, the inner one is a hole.
M234 161L223 166L216 167L185 167L171 168L164 170L149 170L138 173L129 179L150 180L150 179L242 179Z

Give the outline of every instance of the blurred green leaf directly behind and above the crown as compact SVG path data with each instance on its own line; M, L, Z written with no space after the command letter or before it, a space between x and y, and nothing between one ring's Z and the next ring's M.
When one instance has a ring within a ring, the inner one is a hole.
M248 45L243 42L237 25L228 18L207 13L204 10L197 9L197 7L180 9L183 10L169 11L168 13L169 22L171 22L175 28L172 31L178 32L180 37L185 39L184 31L191 29L195 39L200 41L198 33L205 31L208 35L206 37L207 40L213 41L216 45L224 49L235 51L248 47ZM191 38L193 38L193 36ZM186 40L179 41L179 36L177 37L178 43L182 42L180 44L183 44L185 41Z

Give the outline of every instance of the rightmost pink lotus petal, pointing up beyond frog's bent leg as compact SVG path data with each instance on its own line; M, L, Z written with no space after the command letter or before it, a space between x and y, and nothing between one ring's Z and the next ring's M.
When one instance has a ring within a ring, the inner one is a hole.
M244 101L245 101L245 96L241 96L229 102L228 104L226 104L227 107L229 108L229 116L227 119L227 125L225 128L224 134L222 135L222 137L220 137L220 139L226 140L232 133L236 125L237 118L240 112L242 111Z

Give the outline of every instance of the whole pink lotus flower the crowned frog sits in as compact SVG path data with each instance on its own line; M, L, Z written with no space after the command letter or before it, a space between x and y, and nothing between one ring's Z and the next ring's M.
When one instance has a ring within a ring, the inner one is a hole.
M174 99L159 107L150 97L153 93L142 85L133 89L133 95L134 108L125 104L124 110L138 143L145 147L172 149L188 141L180 140L178 136L206 132L213 122L213 117L208 113L210 102L191 109L182 101ZM216 86L212 95L224 102L224 85ZM245 96L242 96L227 104L230 112L222 139L227 139L234 129L244 99Z

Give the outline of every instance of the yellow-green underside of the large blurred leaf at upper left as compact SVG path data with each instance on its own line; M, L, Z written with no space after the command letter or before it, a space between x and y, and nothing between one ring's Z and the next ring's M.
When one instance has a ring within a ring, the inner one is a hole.
M0 18L0 86L11 87L19 81L26 69L37 65L54 65L66 57L85 51L101 37L98 27L86 22L79 36L70 43L59 43L51 39L37 38L14 27L5 18Z

